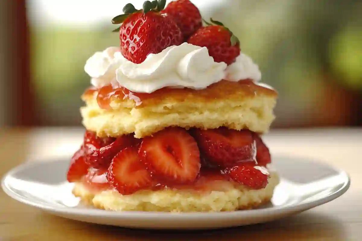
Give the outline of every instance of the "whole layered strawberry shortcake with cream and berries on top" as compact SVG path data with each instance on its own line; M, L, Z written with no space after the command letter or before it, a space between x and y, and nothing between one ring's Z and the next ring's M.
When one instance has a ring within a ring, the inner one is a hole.
M132 4L113 18L120 46L85 72L86 128L67 180L114 211L208 212L268 203L279 182L261 135L277 92L221 22L189 0Z

